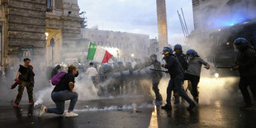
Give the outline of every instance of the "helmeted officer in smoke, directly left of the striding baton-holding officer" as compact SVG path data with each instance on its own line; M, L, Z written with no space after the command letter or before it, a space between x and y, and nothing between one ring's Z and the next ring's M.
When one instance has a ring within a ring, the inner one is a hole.
M161 69L161 63L159 62L159 60L157 59L157 55L154 53L152 55L150 55L151 58L151 63L150 65L154 66L154 69ZM162 72L158 72L158 71L154 71L153 73L151 73L151 80L152 80L152 84L153 84L153 90L154 90L154 94L155 94L155 103L161 105L162 101L163 101L163 97L159 92L159 83L161 78L163 77L163 73Z

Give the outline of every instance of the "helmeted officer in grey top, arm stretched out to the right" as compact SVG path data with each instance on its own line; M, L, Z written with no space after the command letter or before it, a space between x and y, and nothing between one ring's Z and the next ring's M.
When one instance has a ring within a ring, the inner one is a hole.
M205 65L205 69L210 69L210 64L197 54L196 50L187 50L187 62L188 68L187 73L185 73L184 80L189 80L192 84L191 94L194 101L198 103L198 90L197 85L200 81L201 65Z

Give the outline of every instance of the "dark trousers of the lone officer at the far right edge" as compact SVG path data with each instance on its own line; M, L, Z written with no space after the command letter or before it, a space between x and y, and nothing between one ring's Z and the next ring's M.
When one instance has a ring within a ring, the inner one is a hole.
M242 95L244 97L244 102L246 105L251 105L252 100L249 96L248 92L248 86L251 89L251 92L254 94L254 97L256 96L256 80L255 77L241 77L239 81L239 89L242 92Z

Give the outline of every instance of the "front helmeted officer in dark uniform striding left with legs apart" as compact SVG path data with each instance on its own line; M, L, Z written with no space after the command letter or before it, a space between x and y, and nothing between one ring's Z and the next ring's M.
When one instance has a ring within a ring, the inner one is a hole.
M197 105L183 91L182 84L183 84L184 73L181 65L178 62L178 59L176 59L176 57L173 55L173 50L170 47L164 47L163 54L164 54L164 60L166 61L166 64L162 64L162 67L165 69L168 69L168 73L170 74L171 79L168 83L168 88L167 88L167 98L166 98L167 104L162 108L165 110L172 110L172 105L171 105L172 91L173 91L173 88L177 88L178 94L189 103L189 107L187 107L187 111L192 111L192 109L194 107L197 107Z

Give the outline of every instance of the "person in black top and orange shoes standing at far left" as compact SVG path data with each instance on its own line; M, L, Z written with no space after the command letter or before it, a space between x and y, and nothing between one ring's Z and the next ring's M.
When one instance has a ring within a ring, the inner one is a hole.
M21 85L18 87L18 94L16 97L16 100L13 104L13 107L18 107L19 103L21 102L21 97L24 91L24 88L26 87L29 103L34 104L33 100L33 87L34 87L34 76L35 73L33 73L32 69L33 66L30 64L31 59L24 59L24 65L20 65L20 69L17 72L17 79L21 80Z

